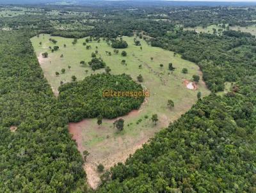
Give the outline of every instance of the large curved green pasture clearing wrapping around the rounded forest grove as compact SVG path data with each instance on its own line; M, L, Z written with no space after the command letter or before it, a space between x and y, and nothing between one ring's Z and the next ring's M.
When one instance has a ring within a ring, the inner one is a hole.
M58 41L56 45L60 47L60 50L51 53L48 47L53 47L54 44L49 41L49 38ZM79 150L90 152L85 167L88 182L92 187L99 183L97 164L102 163L108 169L113 166L113 163L124 161L142 143L153 137L155 132L167 127L170 122L177 120L181 114L188 111L195 104L198 91L202 93L202 96L210 93L202 81L199 82L197 90L190 90L184 85L184 80L191 80L192 75L201 76L202 73L195 63L181 59L178 55L173 56L173 52L168 50L151 47L144 40L140 40L141 50L140 46L134 45L134 37L124 36L123 38L129 45L127 49L124 49L127 52L126 57L120 54L123 49L120 49L118 54L114 54L113 48L103 40L100 43L87 43L92 46L92 49L86 50L83 45L85 38L79 39L76 45L72 45L73 39L70 38L49 35L31 38L45 77L56 94L60 82L70 82L72 75L76 75L77 80L82 80L91 73L104 72L104 70L93 72L90 67L80 65L80 61L88 62L92 59L91 54L95 52L96 46L99 51L97 57L101 57L106 62L106 65L111 68L111 73L127 73L134 81L137 81L136 77L141 74L144 79L143 87L150 91L150 97L146 98L140 111L132 111L124 116L125 127L120 133L113 128L114 120L103 120L100 127L96 119L86 119L81 123L72 124L75 128L72 134L77 140ZM39 45L39 42L42 42L42 45ZM63 47L64 44L67 45L66 48ZM112 55L107 56L106 51L111 52ZM49 58L42 58L42 52L49 52ZM61 54L63 58L60 57ZM151 57L154 59L151 60ZM121 64L122 59L125 59L127 65ZM170 62L176 68L173 73L168 70ZM159 66L160 64L164 65L163 69ZM68 65L71 66L70 70L68 70ZM142 67L139 68L139 65ZM66 72L56 77L55 72L61 72L61 68L65 68ZM188 73L182 73L182 68L188 68ZM87 73L86 70L88 70ZM172 109L167 107L169 99L175 104ZM157 125L150 120L154 113L159 117Z

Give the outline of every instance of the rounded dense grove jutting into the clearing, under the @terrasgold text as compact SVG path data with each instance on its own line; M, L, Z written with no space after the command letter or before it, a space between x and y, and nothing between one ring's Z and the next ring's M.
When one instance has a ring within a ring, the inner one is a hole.
M98 116L116 118L138 109L144 100L144 96L103 96L104 91L142 91L141 85L125 74L91 75L83 81L63 84L59 91L58 109L70 122Z

